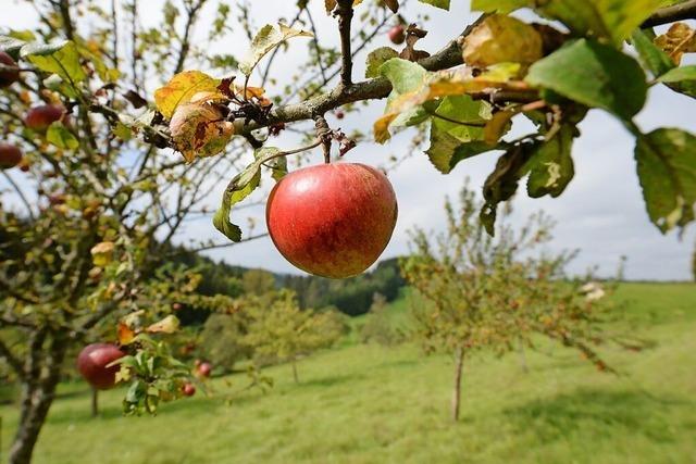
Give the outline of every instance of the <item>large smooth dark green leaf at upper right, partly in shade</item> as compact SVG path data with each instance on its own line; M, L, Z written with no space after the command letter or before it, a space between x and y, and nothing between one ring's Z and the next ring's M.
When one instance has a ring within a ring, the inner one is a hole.
M536 62L525 80L623 120L641 111L647 97L645 73L634 59L587 39Z

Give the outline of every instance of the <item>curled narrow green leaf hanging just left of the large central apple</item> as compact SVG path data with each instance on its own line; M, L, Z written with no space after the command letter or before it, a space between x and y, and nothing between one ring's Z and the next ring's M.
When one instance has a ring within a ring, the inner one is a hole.
M241 240L241 229L236 224L229 222L232 206L247 198L259 187L261 183L261 165L274 160L281 150L273 147L264 147L253 152L254 161L243 172L237 174L222 198L222 204L213 216L213 225L232 241Z

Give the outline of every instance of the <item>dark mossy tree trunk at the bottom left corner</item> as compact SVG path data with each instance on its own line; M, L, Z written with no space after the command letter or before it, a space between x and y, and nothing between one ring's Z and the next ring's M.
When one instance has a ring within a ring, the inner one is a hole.
M36 347L41 350L40 344ZM55 398L55 387L60 379L61 364L65 355L65 340L53 339L46 351L29 353L27 365L37 365L37 360L45 356L44 369L27 369L32 373L22 380L22 401L20 424L10 447L9 464L29 464L32 453L39 438L39 432L48 411ZM38 377L38 378L37 378Z

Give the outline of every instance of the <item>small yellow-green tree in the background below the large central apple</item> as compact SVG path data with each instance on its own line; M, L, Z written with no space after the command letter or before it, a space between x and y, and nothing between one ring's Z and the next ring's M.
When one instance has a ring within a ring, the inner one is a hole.
M299 383L297 359L333 344L343 327L333 312L300 310L295 293L283 290L249 304L251 317L241 342L257 356L270 356L293 364L293 377Z

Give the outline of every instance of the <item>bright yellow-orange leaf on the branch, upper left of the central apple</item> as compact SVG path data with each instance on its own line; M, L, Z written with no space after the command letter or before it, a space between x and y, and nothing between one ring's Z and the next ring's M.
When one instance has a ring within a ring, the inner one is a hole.
M199 92L217 93L220 79L215 79L200 71L185 71L178 73L154 91L154 104L164 117L170 120L177 106L188 103Z

